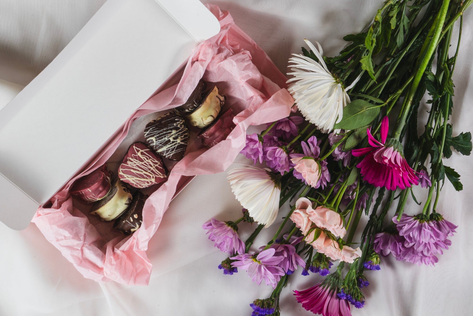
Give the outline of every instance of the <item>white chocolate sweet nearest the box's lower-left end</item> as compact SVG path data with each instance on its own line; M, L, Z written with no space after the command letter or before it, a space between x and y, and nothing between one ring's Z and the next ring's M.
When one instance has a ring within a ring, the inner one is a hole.
M105 198L97 201L90 214L98 215L105 221L119 217L131 203L131 188L120 179L112 180L112 188Z

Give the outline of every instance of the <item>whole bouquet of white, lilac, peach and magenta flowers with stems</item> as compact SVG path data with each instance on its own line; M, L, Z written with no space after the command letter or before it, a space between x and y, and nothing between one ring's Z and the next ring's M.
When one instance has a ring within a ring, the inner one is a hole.
M338 56L324 56L319 43L305 40L309 49L289 59L293 114L247 135L241 153L254 165L228 172L243 216L203 225L228 253L219 265L224 274L244 270L274 289L250 304L252 315L280 315L281 291L298 267L302 275L325 276L294 290L302 307L351 315L350 306L365 304L365 272L380 270L383 256L433 266L451 245L457 226L437 204L445 182L463 189L460 175L444 165L452 147L464 155L472 150L471 133L452 135L448 122L462 14L472 2L387 0L364 32L344 37L350 43ZM429 107L427 120L418 117L421 103ZM413 186L428 191L425 201L418 202ZM404 214L411 198L417 215ZM285 203L289 213L281 214ZM273 238L254 251L255 237L278 217ZM245 222L258 225L244 242L238 225Z

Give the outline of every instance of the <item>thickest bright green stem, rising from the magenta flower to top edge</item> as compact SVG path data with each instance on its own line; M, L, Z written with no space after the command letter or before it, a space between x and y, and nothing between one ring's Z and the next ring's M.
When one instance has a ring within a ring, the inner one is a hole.
M420 63L419 69L414 76L414 80L412 81L411 88L409 89L409 93L407 94L406 98L404 99L404 104L399 113L399 116L396 121L396 126L394 127L393 138L399 139L401 136L401 132L403 127L406 123L406 118L409 114L409 109L411 108L412 100L414 99L414 95L416 93L417 88L419 87L420 80L427 69L427 65L429 64L430 58L435 53L435 49L438 45L438 41L440 38L440 33L442 32L442 27L445 22L445 17L447 16L447 10L450 0L443 0L442 7L438 12L438 22L436 24L434 34L432 39L430 40L429 47ZM429 41L429 37L426 38L426 41Z

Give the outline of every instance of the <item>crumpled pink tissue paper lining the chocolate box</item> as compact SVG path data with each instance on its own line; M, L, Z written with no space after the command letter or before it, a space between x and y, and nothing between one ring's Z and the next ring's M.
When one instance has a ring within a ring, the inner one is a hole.
M146 255L148 242L179 186L195 175L225 171L245 145L248 126L289 116L294 100L285 89L286 77L235 25L228 11L220 11L215 5L207 5L207 8L219 19L220 32L193 50L179 83L142 104L88 166L50 203L39 208L32 220L46 239L86 278L147 285L152 268ZM225 108L231 107L235 114L236 127L227 139L208 149L191 134L184 159L169 168L167 181L150 194L143 208L143 223L133 235L121 235L113 231L112 223L101 222L100 218L89 215L90 205L70 195L72 183L109 161L133 122L183 104L201 78L219 87L228 98Z

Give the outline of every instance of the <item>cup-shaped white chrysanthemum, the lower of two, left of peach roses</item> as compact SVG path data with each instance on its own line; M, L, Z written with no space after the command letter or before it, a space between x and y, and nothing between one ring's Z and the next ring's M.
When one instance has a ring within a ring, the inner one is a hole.
M228 172L228 182L241 205L259 224L269 227L279 210L280 184L269 169L245 165Z

